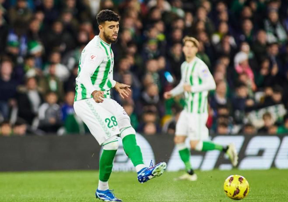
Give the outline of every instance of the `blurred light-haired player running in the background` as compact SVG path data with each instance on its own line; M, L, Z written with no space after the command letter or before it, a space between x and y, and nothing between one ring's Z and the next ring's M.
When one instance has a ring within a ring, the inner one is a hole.
M232 165L238 161L234 144L222 146L208 140L209 131L206 127L208 118L207 96L208 91L216 87L213 76L206 64L196 57L199 42L186 36L183 39L183 52L185 62L181 65L181 81L171 91L164 93L164 98L169 99L184 92L185 107L176 124L174 142L179 150L181 160L185 164L187 173L179 179L197 180L190 164L190 150L185 146L185 139L190 139L191 149L196 151L220 150L228 154Z

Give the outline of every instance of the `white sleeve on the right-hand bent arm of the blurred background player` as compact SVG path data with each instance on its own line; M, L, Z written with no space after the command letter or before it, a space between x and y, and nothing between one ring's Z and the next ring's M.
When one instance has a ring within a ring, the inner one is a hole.
M191 92L198 93L201 91L214 90L216 88L214 78L204 62L201 62L199 65L198 76L202 80L202 83L199 85L191 86Z

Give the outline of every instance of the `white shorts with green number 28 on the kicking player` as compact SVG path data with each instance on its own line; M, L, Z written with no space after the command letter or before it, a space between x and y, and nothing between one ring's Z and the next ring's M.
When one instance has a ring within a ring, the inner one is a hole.
M103 99L102 103L96 103L93 98L74 102L75 113L87 125L99 145L113 136L116 138L121 128L131 126L129 116L118 102ZM127 123L130 125L126 126Z

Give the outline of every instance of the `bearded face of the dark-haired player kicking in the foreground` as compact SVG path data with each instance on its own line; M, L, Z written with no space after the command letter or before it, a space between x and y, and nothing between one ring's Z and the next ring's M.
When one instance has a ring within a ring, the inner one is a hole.
M118 39L119 22L105 21L103 25L99 26L105 40L109 43L116 43Z

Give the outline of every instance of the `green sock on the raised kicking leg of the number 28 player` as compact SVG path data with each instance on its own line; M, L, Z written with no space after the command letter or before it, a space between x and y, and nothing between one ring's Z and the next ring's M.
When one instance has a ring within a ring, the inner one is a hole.
M130 158L134 166L144 164L142 152L136 143L135 134L130 134L122 139L123 148L127 156Z

